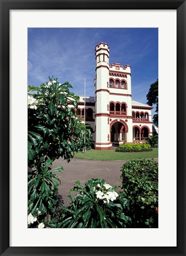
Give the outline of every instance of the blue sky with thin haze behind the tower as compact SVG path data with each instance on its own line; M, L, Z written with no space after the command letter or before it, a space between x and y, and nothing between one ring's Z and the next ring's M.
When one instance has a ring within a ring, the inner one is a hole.
M146 104L158 78L158 28L28 28L28 85L48 76L68 81L77 95L94 96L96 44L109 44L109 63L130 65L132 100Z

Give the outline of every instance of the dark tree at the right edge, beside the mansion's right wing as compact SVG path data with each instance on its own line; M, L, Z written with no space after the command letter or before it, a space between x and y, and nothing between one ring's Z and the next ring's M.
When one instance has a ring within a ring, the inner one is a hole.
M153 121L156 126L158 126L158 79L151 84L149 88L148 94L146 94L146 99L148 105L156 105L155 112L157 114L154 114Z

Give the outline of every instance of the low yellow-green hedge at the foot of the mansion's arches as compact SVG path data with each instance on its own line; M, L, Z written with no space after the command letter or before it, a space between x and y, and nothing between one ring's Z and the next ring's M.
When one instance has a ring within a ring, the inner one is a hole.
M143 152L152 151L148 143L123 143L119 145L116 152Z

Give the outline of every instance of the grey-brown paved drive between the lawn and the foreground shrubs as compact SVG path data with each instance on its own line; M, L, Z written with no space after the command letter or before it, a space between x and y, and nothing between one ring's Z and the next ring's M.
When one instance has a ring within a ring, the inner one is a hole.
M100 178L106 180L106 183L110 185L120 185L120 168L126 161L94 161L73 158L69 163L63 159L57 159L53 163L53 168L58 166L63 167L63 172L58 172L58 176L61 180L59 185L59 194L63 196L64 205L70 203L67 195L69 190L73 188L75 181L79 180L81 183L85 183L92 178ZM72 194L72 193L71 193Z

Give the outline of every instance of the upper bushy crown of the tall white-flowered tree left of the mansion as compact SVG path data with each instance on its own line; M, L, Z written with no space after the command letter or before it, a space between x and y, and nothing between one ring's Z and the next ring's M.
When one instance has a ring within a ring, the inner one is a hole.
M76 117L79 97L70 91L72 86L50 79L41 87L30 85L28 94L35 102L28 107L28 166L40 166L47 159L60 156L69 162L74 153L91 142L91 132ZM73 108L70 108L72 105Z

